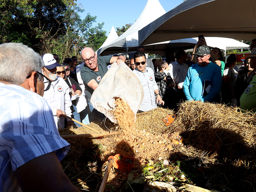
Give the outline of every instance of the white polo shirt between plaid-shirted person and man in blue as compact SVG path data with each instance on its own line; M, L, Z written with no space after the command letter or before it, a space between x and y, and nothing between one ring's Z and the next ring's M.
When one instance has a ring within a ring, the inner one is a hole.
M169 73L172 77L172 79L177 83L181 88L183 88L183 83L185 81L185 78L188 73L188 65L185 63L182 63L180 65L177 61L172 62L169 66ZM175 91L178 91L176 88L174 88Z

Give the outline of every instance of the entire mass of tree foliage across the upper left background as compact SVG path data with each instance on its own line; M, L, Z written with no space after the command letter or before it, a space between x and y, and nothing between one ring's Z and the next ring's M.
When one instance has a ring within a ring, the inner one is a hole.
M107 38L104 23L92 27L97 17L81 20L79 12L76 0L1 0L0 43L23 43L62 59L79 56L85 46L98 49Z

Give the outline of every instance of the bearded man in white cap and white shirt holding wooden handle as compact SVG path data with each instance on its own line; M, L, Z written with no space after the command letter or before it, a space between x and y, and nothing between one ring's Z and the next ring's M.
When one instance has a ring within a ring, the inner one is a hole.
M44 92L44 99L48 102L52 109L55 124L58 128L64 128L64 115L71 117L72 112L70 106L72 102L69 96L68 84L56 74L56 67L60 66L53 58L53 55L46 53L42 56L44 67L42 71L46 77L51 79L51 87L48 91ZM44 79L44 82L46 79ZM72 126L73 122L67 119L68 126Z

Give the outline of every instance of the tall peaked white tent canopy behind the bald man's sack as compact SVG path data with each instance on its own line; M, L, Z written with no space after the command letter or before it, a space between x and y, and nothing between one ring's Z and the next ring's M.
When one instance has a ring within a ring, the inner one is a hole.
M148 0L139 18L112 43L98 49L98 55L126 52L130 47L138 47L138 31L166 13L158 0Z

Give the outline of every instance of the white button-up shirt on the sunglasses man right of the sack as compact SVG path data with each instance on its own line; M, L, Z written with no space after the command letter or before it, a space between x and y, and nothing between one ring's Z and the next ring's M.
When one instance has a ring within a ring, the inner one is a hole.
M158 90L158 86L155 81L153 69L146 67L145 72L143 73L135 68L133 72L140 80L144 92L144 97L140 104L139 110L148 111L156 108L155 90Z

